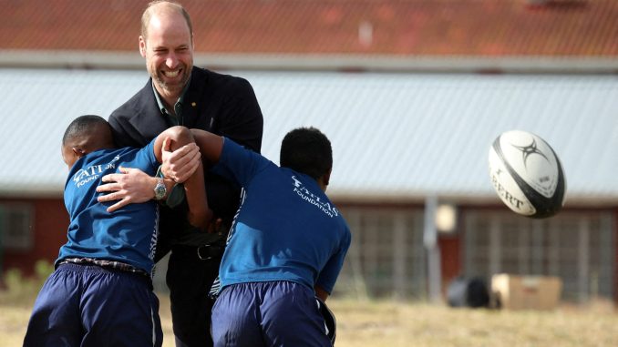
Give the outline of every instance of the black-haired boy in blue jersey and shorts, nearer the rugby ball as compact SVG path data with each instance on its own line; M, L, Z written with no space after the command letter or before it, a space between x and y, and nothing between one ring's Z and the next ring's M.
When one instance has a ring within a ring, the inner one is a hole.
M326 300L351 234L326 197L328 138L298 128L283 138L281 167L211 133L191 129L212 171L244 189L212 309L215 346L331 346L315 296Z

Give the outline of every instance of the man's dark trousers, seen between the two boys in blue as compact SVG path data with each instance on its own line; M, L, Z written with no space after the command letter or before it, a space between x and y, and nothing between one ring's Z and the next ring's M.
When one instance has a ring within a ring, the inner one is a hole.
M171 321L177 347L212 346L213 302L208 292L219 274L222 249L211 255L214 256L199 257L197 247L172 247L166 281L170 288Z

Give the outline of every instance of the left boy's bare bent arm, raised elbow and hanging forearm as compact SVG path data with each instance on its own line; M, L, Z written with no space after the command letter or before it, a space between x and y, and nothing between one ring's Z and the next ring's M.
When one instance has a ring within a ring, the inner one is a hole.
M191 131L188 128L173 127L163 131L155 140L154 151L159 162L164 162L174 151L182 150L190 153L191 160L185 162L186 167L192 168L191 176L183 183L185 197L189 206L187 219L192 226L201 230L208 230L212 211L208 207L206 188L204 185L204 170L199 153L195 157L196 145L193 143ZM188 150L189 149L189 150ZM191 153L193 153L191 155Z

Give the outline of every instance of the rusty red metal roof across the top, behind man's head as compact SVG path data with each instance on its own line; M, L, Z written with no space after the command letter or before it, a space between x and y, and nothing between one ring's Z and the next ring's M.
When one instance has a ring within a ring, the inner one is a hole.
M185 0L196 51L618 56L618 1ZM0 0L0 49L138 49L147 1Z

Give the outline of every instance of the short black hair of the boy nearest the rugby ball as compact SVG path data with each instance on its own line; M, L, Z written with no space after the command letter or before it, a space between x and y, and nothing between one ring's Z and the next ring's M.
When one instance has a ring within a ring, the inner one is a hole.
M333 168L331 141L316 128L295 128L281 142L279 163L283 168L320 179Z

